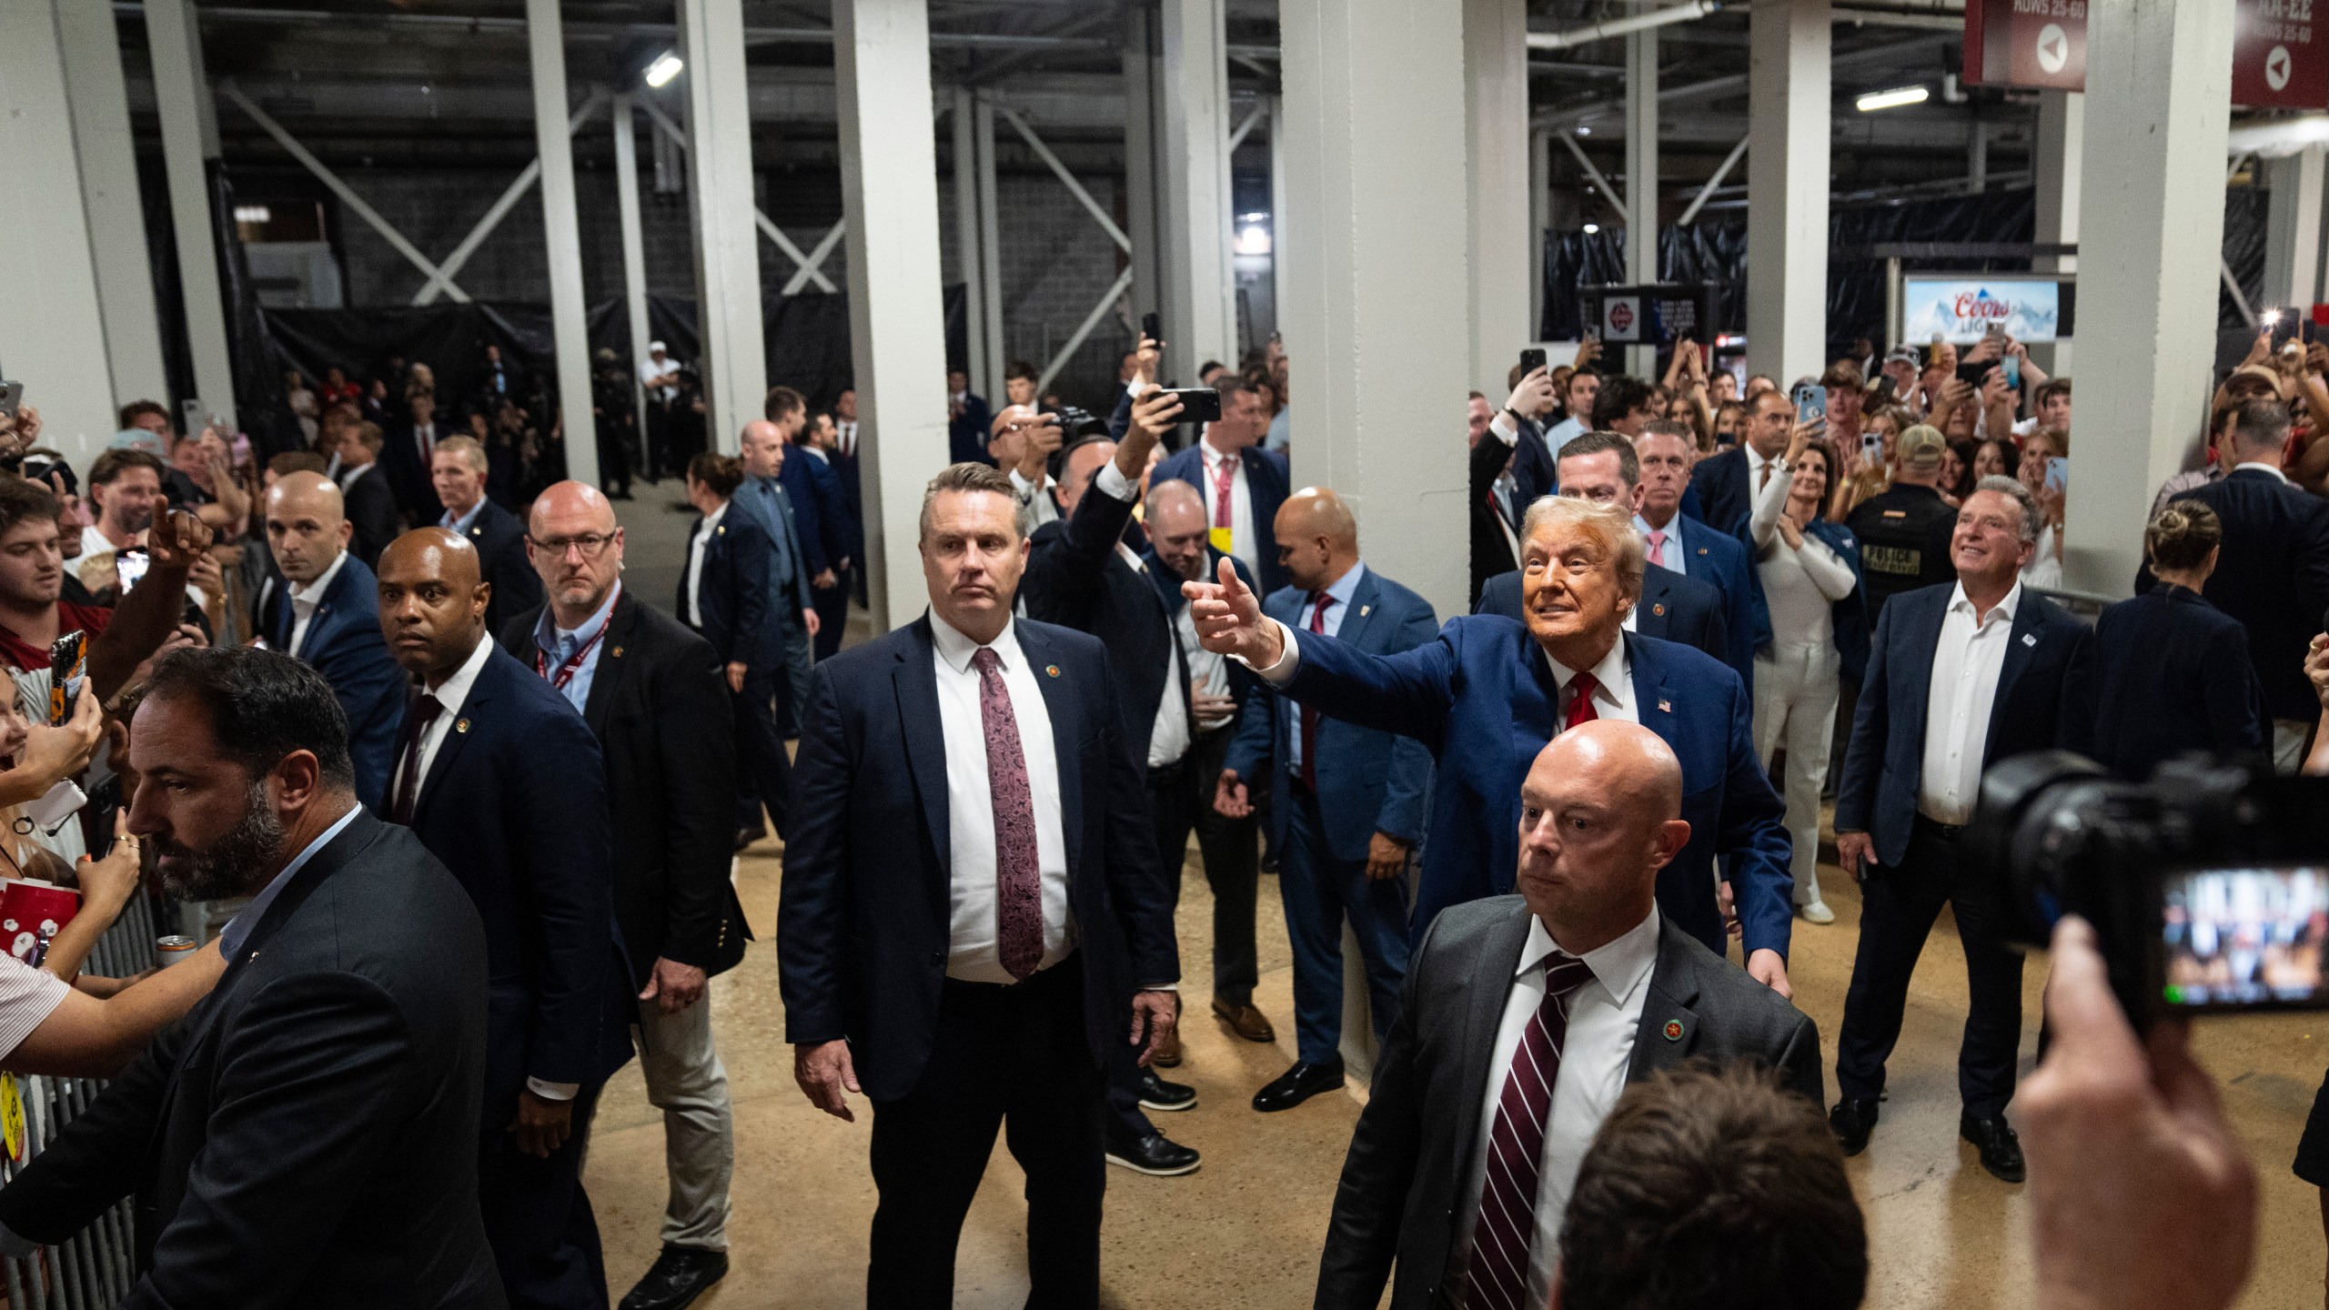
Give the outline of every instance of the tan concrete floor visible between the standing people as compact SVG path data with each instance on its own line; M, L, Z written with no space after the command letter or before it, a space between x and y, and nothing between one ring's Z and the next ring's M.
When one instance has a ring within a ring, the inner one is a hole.
M622 506L631 578L668 604L687 517L647 513L661 499ZM864 629L864 615L852 627ZM855 636L855 634L852 634ZM866 1172L866 1112L843 1124L808 1107L792 1084L783 1042L776 928L780 848L764 841L738 858L736 883L762 942L713 984L713 1014L736 1103L736 1182L729 1226L731 1273L701 1310L845 1308L864 1303L866 1228L873 1184ZM1859 895L1838 869L1821 869L1835 923L1796 925L1796 1002L1819 1023L1833 1096L1835 1028L1859 928ZM1188 1061L1171 1072L1197 1086L1197 1110L1158 1114L1158 1126L1204 1151L1204 1168L1158 1179L1109 1170L1104 1305L1295 1308L1309 1305L1335 1177L1360 1103L1321 1096L1300 1110L1262 1117L1253 1091L1293 1063L1290 953L1276 879L1262 879L1260 988L1255 1002L1279 1028L1276 1049L1232 1037L1209 1014L1209 890L1190 853L1181 893L1181 960ZM2043 958L2024 981L2024 1070L2036 1061ZM1954 923L1942 916L1910 995L1891 1098L1868 1151L1849 1161L1868 1214L1873 1275L1868 1305L1884 1310L2029 1305L2029 1212L2019 1186L1982 1172L1956 1140L1956 1037L1966 972ZM2245 1310L2322 1305L2320 1193L2289 1175L2313 1091L2329 1065L2329 1014L2208 1019L2196 1049L2215 1070L2224 1105L2247 1140L2261 1177L2264 1214ZM654 1259L664 1205L661 1121L647 1105L638 1065L608 1086L599 1110L587 1184L606 1240L608 1280L620 1298ZM962 1233L955 1303L1015 1308L1027 1296L1020 1175L997 1142L994 1165Z

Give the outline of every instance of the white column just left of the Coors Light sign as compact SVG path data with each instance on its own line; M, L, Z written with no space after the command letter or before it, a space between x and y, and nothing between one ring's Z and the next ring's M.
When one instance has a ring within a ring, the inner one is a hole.
M1782 387L1828 352L1828 0L1747 19L1747 366Z

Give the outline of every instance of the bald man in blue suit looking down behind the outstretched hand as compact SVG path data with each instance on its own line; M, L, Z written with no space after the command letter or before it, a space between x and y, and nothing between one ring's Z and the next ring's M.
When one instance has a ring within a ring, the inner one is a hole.
M1430 601L1358 557L1358 520L1342 496L1304 487L1279 508L1279 555L1290 587L1262 611L1351 650L1395 655L1425 646ZM1202 585L1202 580L1199 580ZM1260 1112L1293 1110L1342 1086L1342 925L1358 937L1374 1037L1390 1033L1407 979L1407 867L1423 841L1432 753L1421 741L1325 718L1260 678L1230 744L1213 809L1248 816L1251 786L1269 779L1279 895L1295 951L1295 1065L1253 1093Z

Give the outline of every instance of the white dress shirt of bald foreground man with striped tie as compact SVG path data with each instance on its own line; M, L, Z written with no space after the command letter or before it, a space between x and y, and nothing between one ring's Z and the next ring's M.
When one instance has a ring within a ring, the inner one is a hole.
M1505 1019L1495 1026L1495 1049L1488 1056L1488 1091L1479 1117L1479 1140L1472 1147L1472 1168L1465 1191L1458 1193L1463 1221L1456 1228L1456 1249L1472 1254L1472 1228L1479 1224L1479 1193L1486 1186L1488 1140L1495 1133L1495 1110L1505 1098L1505 1079L1512 1075L1512 1056L1521 1049L1521 1033L1544 1005L1544 970L1539 963L1553 953L1553 935L1544 921L1530 916L1528 944L1521 946L1521 967L1512 974L1512 991L1505 995ZM1649 974L1658 965L1658 907L1649 907L1649 918L1635 923L1623 937L1586 951L1584 963L1593 970L1593 981L1570 995L1570 1026L1560 1040L1560 1072L1553 1077L1553 1105L1544 1119L1544 1151L1537 1156L1537 1233L1528 1242L1528 1305L1549 1305L1553 1298L1553 1266L1560 1263L1560 1217L1570 1207L1570 1191L1577 1186L1577 1165L1586 1158L1586 1147L1600 1133L1602 1119L1616 1107L1626 1091L1626 1070L1633 1065L1633 1037L1642 1028L1642 1005L1649 1000Z

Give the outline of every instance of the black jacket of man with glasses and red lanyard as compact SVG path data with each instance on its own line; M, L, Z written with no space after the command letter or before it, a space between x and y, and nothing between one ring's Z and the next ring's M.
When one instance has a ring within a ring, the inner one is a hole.
M536 667L543 608L501 629L501 648ZM615 597L582 720L606 758L615 841L615 923L633 988L654 958L717 974L743 960L752 928L729 881L736 839L736 730L727 674L680 620Z

